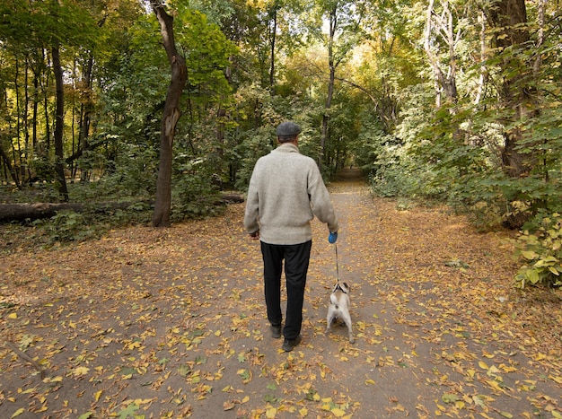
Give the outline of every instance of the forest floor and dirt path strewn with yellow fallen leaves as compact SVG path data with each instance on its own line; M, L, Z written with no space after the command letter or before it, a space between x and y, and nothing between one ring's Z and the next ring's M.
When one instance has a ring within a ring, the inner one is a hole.
M291 353L270 337L243 204L52 249L0 243L0 417L562 417L562 294L513 288L513 233L401 208L355 175L329 187L354 345L324 334L336 247L316 221Z

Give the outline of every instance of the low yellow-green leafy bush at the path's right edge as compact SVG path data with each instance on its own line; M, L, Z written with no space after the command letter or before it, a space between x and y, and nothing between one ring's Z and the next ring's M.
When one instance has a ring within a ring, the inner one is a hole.
M562 285L562 217L558 213L537 217L533 233L524 231L517 239L522 266L515 284Z

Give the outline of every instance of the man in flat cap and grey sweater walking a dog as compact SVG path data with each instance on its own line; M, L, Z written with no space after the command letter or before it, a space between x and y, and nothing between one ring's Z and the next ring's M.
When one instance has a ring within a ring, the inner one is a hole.
M260 240L264 288L272 336L281 337L281 273L285 260L287 305L283 349L301 342L303 299L312 248L314 215L328 224L329 242L338 239L338 218L320 170L312 158L299 153L301 128L292 121L277 127L278 147L261 157L248 189L244 226Z

